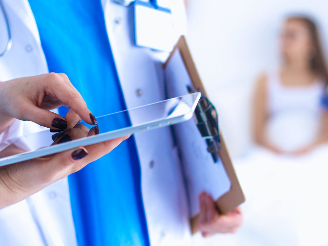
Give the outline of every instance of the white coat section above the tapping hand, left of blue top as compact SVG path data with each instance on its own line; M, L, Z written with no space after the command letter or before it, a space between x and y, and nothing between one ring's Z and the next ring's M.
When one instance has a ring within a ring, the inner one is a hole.
M3 0L12 47L0 57L0 81L48 72L39 32L28 0ZM0 34L1 35L1 34Z

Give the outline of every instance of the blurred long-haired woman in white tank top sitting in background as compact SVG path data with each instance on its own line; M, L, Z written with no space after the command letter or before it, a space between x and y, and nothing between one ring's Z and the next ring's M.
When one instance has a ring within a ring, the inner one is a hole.
M277 154L305 154L328 139L328 111L321 106L328 73L315 22L286 18L280 52L280 69L257 83L255 141Z

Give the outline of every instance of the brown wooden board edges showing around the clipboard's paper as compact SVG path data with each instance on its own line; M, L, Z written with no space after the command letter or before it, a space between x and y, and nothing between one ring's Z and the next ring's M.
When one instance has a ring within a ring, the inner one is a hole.
M164 66L166 66L166 64L170 61L171 57L173 56L174 52L177 50L181 54L181 57L185 63L185 66L189 73L191 81L194 85L194 88L196 90L199 90L202 94L204 94L207 97L203 83L199 77L195 63L193 61L193 58L191 56L191 53L189 51L189 48L187 46L187 42L186 42L186 39L184 36L180 37L179 41L177 42L176 46L174 47L174 50L172 51L171 55L167 59ZM221 214L228 214L229 212L233 211L237 206L239 206L241 203L243 203L245 201L245 196L241 190L241 187L240 187L238 178L236 176L235 169L231 162L231 158L229 156L222 133L220 130L219 130L219 132L220 132L220 140L221 140L221 149L219 151L219 156L221 158L221 161L222 161L224 168L230 179L231 189L225 195L221 196L218 200L216 200L215 203ZM191 223L192 234L195 234L199 230L198 229L198 215L192 217L190 219L190 223Z

